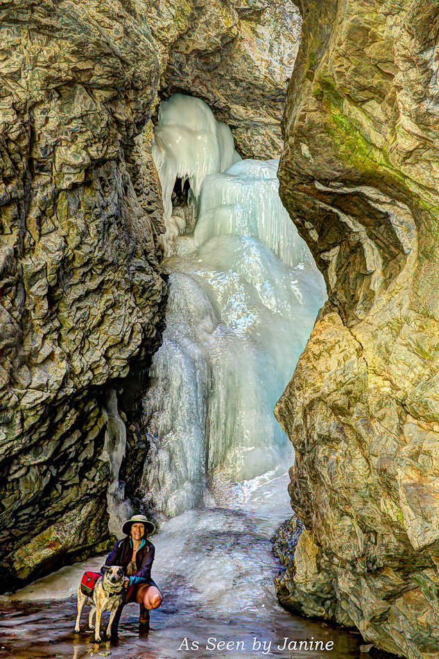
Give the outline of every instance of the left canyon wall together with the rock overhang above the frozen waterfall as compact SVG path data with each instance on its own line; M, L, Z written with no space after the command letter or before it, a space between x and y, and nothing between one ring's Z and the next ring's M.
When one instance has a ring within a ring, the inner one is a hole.
M158 92L200 96L244 157L275 157L299 24L270 0L0 0L3 590L111 543L112 389L139 504L166 302Z

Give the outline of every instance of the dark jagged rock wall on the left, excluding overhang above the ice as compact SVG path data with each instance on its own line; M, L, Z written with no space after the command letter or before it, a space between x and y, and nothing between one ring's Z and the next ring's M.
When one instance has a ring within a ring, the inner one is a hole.
M146 13L0 1L6 589L108 544L105 390L160 341L160 187L137 137L159 77Z

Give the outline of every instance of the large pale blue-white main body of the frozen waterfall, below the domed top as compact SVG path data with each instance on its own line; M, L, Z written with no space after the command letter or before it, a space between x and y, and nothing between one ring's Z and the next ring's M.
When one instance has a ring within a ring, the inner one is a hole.
M273 407L325 286L280 203L276 163L242 161L205 178L195 234L178 237L165 262L166 331L144 397L141 486L168 516L200 505L207 477L251 479L289 451Z

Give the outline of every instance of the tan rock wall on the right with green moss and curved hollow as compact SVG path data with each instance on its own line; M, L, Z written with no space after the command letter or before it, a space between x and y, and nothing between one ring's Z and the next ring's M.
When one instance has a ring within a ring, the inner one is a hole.
M281 601L439 651L439 6L302 0L280 194L329 302L276 408L305 530Z

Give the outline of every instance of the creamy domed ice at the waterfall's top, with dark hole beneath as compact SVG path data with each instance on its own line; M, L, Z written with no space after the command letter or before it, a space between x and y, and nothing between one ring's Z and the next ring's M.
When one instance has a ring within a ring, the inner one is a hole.
M173 239L187 224L173 216L175 180L182 179L182 185L189 181L189 205L193 207L205 177L224 171L241 156L235 151L230 128L217 121L209 106L194 96L173 94L163 101L154 135L153 158L162 184L166 227L164 248L165 256L169 256Z

